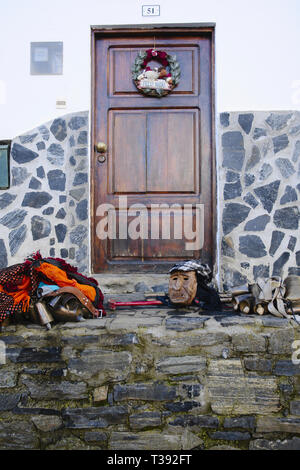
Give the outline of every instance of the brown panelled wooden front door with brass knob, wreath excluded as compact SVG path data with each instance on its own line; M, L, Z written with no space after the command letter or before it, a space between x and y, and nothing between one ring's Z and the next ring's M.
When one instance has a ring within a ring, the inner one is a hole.
M212 265L212 37L212 27L93 29L94 273L167 272L192 258ZM139 51L154 44L181 68L161 98L141 94L131 75ZM107 150L99 153L98 142Z

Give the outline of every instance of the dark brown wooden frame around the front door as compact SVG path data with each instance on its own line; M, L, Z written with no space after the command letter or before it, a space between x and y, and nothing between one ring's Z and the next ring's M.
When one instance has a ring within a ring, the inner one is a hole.
M180 23L180 24L139 24L139 25L101 25L91 26L91 116L90 116L90 257L91 257L91 272L94 273L94 250L96 244L94 239L95 233L95 215L91 210L94 207L94 191L95 183L92 175L95 170L95 100L96 100L96 83L95 83L95 60L96 60L96 41L98 38L105 38L108 35L118 37L124 34L134 35L145 31L147 33L171 32L182 33L188 31L190 33L207 34L211 41L211 181L212 181L212 197L211 197L211 214L212 214L212 233L211 233L211 246L212 246L212 259L211 267L214 269L217 262L217 181L216 181L216 107L215 107L215 23ZM129 271L128 271L129 272Z

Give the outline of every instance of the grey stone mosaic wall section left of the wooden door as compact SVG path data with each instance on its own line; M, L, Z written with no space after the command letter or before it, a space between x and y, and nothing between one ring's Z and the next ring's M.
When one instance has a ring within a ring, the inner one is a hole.
M0 191L0 268L33 251L88 272L88 113L15 138L11 187Z

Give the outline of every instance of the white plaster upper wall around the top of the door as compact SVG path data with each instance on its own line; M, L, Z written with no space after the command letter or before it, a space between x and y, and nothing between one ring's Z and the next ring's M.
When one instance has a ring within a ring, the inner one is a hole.
M91 25L215 22L217 111L300 107L299 0L0 0L0 18L0 139L90 109ZM32 41L63 41L63 75L30 75Z

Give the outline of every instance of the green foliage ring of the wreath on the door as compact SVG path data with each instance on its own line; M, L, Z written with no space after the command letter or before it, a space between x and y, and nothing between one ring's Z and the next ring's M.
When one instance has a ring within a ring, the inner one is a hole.
M170 93L170 91L172 91L173 88L176 85L178 85L178 83L180 81L181 70L180 70L179 62L176 60L176 56L166 54L166 60L168 62L168 67L170 69L170 74L171 74L171 77L172 77L172 86L170 87L169 90L164 90L162 88L161 89L160 88L157 88L157 89L139 88L138 77L144 70L144 63L145 63L146 59L147 59L147 52L146 51L139 51L133 65L131 67L132 79L133 79L136 87L144 95L154 96L154 97L157 97L157 98L161 98L162 96L168 95ZM159 61L159 58L153 57L153 60L158 60Z

